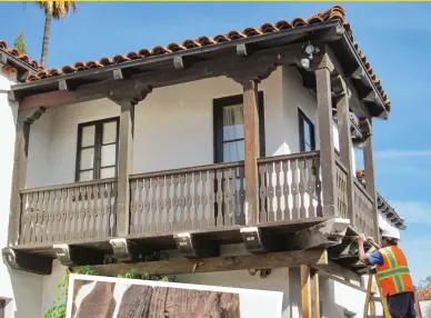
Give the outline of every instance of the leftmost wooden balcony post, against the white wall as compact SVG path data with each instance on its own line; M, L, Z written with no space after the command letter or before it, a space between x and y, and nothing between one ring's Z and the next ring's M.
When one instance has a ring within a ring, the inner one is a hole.
M27 159L30 138L30 122L27 120L17 123L14 141L12 190L9 213L9 246L16 246L20 235L21 195L26 188Z

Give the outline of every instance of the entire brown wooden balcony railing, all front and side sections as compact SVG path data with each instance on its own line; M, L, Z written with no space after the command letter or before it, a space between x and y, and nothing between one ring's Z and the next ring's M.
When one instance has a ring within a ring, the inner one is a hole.
M323 216L320 152L261 158L258 223ZM348 206L349 171L337 160L335 212L354 216L354 226L373 235L373 202L354 179L353 213ZM132 237L184 230L245 226L244 162L132 175ZM20 191L19 245L108 239L117 233L117 179L103 179Z

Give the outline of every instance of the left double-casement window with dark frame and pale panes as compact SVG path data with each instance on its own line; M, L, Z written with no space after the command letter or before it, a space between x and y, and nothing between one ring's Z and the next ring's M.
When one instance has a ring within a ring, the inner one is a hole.
M80 123L76 181L117 177L119 118Z

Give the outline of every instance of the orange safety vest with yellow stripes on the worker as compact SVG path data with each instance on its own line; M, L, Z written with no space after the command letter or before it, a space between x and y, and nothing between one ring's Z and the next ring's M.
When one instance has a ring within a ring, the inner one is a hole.
M398 246L379 249L383 265L377 266L377 279L384 297L405 291L414 291L409 266Z

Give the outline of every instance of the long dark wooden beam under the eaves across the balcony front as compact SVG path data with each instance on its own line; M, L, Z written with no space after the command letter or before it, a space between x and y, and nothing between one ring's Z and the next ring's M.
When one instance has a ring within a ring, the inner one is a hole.
M23 98L20 109L33 107L58 107L70 103L83 102L100 98L109 98L112 89L119 91L139 89L146 87L160 88L194 80L230 76L250 78L259 76L259 79L268 77L275 66L290 64L302 54L303 43L289 44L275 49L267 49L253 53L250 57L227 56L223 58L199 61L184 69L147 71L131 76L122 80L104 80L96 83L87 83L74 91L50 91L31 95ZM242 76L243 74L243 76ZM19 95L19 90L16 90ZM19 96L17 96L19 98Z

